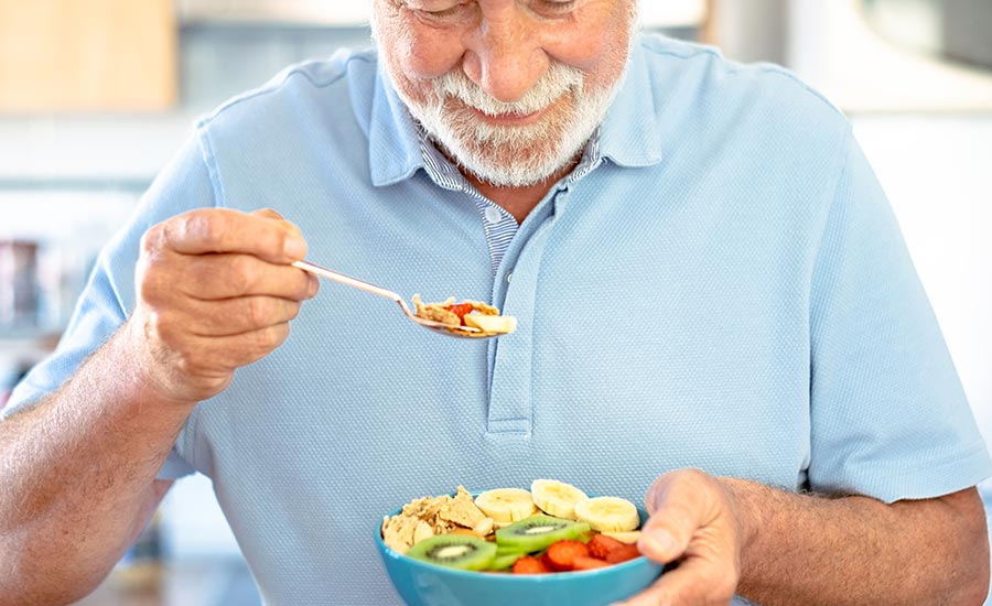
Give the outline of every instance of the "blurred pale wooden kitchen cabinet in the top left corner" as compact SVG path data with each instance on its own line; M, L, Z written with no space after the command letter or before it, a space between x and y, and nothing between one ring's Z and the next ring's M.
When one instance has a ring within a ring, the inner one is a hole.
M0 111L162 110L175 98L172 0L0 0Z

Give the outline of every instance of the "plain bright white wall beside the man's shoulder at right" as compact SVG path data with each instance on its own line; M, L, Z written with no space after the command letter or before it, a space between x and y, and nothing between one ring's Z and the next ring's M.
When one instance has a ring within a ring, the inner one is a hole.
M853 122L992 443L992 113Z

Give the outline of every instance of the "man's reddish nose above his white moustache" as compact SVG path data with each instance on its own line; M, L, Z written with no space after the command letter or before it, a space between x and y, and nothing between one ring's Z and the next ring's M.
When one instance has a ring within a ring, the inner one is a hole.
M518 8L486 15L470 35L465 74L493 98L519 100L548 71L548 56Z

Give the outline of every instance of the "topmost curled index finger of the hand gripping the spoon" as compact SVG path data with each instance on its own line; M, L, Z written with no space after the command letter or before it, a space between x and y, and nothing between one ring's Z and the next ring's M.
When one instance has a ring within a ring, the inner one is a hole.
M291 263L306 256L300 230L269 209L252 214L226 208L191 210L152 227L144 247L182 255L240 252L271 263Z

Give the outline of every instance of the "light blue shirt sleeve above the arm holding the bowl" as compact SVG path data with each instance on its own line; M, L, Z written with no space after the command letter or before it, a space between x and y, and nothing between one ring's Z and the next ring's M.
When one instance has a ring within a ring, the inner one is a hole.
M885 502L992 462L898 224L851 138L810 293L810 487Z

